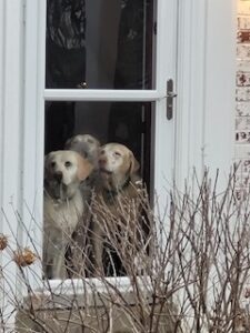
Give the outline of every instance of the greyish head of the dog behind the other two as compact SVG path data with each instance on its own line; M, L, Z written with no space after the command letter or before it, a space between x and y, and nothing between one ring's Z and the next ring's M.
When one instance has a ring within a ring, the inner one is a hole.
M100 142L90 134L79 134L67 140L64 149L77 151L82 158L96 164Z

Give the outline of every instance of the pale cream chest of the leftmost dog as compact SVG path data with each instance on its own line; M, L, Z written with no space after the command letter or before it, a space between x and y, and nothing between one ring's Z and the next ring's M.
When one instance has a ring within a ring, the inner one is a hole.
M59 230L72 233L83 214L83 202L80 192L71 200L54 202L44 194L44 228L48 232Z

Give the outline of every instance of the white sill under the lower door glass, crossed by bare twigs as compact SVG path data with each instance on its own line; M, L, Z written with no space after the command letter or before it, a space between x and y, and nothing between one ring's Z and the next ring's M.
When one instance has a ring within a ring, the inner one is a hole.
M29 310L31 305L33 310L102 306L103 302L111 301L133 305L138 302L137 290L143 295L143 302L149 303L152 291L149 278L139 278L134 282L127 276L50 280L24 296L23 309Z

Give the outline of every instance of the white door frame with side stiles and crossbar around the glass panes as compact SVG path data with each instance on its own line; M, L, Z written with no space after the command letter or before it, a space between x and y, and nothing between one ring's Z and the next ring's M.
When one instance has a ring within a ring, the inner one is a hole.
M26 43L24 43L24 158L23 199L34 208L38 228L33 229L38 244L41 244L42 230L42 181L44 141L44 101L152 101L156 102L156 167L154 184L158 193L162 178L172 179L173 170L173 121L166 117L166 85L169 78L176 78L177 1L158 0L157 36L157 82L154 90L79 90L43 89L46 63L46 1L26 0ZM30 46L33 46L31 48ZM28 131L28 129L32 129ZM31 153L31 157L30 157ZM170 162L171 161L171 162ZM33 179L30 182L30 179ZM162 194L163 196L163 194ZM36 202L33 201L36 198ZM26 220L29 221L30 212ZM40 236L39 236L40 234Z

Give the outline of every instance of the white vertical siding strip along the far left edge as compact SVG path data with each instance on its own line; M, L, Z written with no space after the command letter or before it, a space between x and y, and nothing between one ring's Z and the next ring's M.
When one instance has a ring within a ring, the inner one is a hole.
M4 319L13 320L10 300L18 297L17 265L13 253L21 241L19 213L21 212L21 124L22 124L22 1L4 0L0 4L1 16L1 195L0 232L9 236L10 251L2 251L0 279L0 306Z

